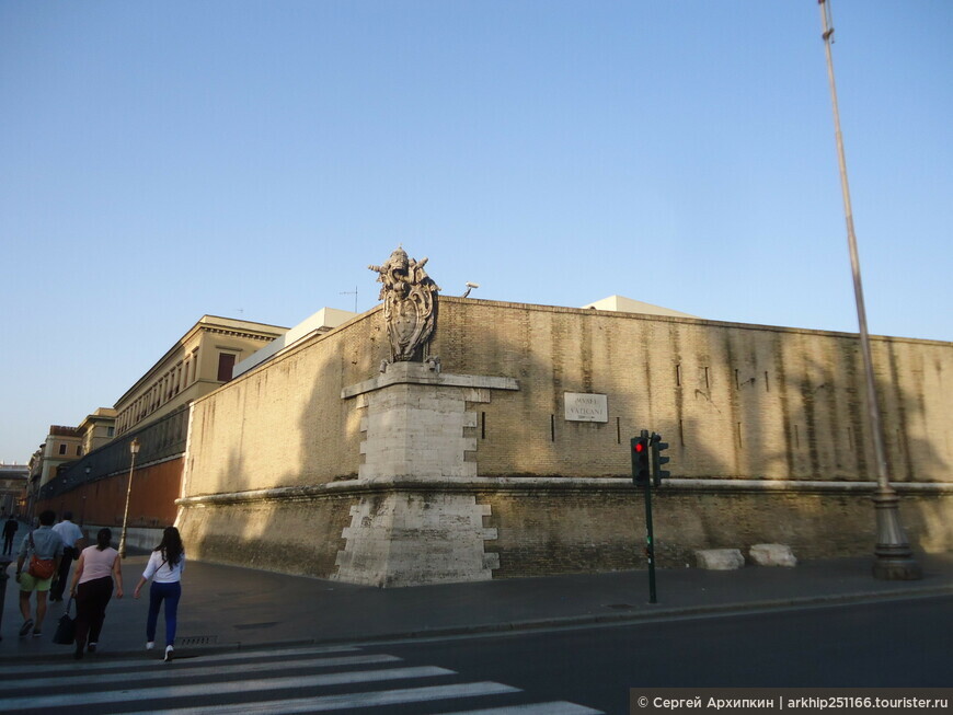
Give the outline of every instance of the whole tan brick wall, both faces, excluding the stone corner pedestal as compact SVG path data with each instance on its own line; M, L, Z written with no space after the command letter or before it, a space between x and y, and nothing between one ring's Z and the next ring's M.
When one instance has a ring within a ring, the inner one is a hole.
M953 482L953 344L873 338L891 478ZM354 480L355 491L221 506L193 503L180 522L197 557L334 577L351 507L361 498L357 400L341 391L388 357L380 310L196 401L185 495L307 487ZM872 482L862 366L853 335L592 310L443 298L432 355L445 373L515 378L519 390L468 404L480 477L629 476L639 429L671 445L673 476L726 489L659 495L659 563L693 565L698 547L784 542L799 557L869 554L866 495L742 493L732 481ZM564 392L608 395L609 422L570 423ZM468 454L467 459L474 455ZM460 488L446 477L423 488ZM598 480L597 480L598 481ZM644 565L644 507L631 487L474 485L495 529L494 577ZM394 488L406 488L394 487ZM902 492L910 542L953 546L950 492Z

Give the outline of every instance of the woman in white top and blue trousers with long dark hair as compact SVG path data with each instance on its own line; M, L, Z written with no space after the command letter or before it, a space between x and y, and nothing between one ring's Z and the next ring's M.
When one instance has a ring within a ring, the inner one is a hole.
M134 598L139 598L139 591L151 578L149 588L149 618L146 620L146 649L156 647L156 623L159 620L159 609L165 602L165 662L172 660L175 642L175 625L179 614L179 599L182 597L182 572L185 570L185 549L182 537L175 527L167 527L162 532L162 542L152 551L142 578L136 585Z

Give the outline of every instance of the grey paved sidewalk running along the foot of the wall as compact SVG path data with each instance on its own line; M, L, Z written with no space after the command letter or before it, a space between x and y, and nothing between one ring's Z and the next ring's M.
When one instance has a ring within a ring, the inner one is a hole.
M659 569L655 604L647 603L644 570L379 589L188 562L176 655L953 593L953 554L918 556L925 572L920 581L875 580L871 558L802 562L794 568L746 566L734 572ZM131 598L146 561L145 554L130 555L123 564L126 596L122 600L114 596L110 602L97 658L146 653L148 593L138 601ZM18 636L22 616L14 572L15 564L8 572L0 661L71 657L70 646L53 643L66 602L50 604L42 637ZM161 616L158 633L157 658L163 645Z

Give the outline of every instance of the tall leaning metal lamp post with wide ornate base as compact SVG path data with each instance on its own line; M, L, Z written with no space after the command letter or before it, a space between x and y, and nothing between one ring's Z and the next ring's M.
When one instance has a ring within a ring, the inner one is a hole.
M860 325L860 349L863 356L866 378L868 426L873 439L874 462L877 470L877 488L873 496L876 514L877 542L874 547L873 575L886 580L915 580L923 577L920 565L914 558L907 535L900 524L899 497L887 477L887 459L881 431L881 414L877 406L876 384L873 373L873 358L870 336L866 330L866 310L863 304L863 286L860 280L860 257L857 251L857 237L853 232L853 212L850 206L850 189L847 184L847 160L843 155L843 138L840 134L840 112L837 107L837 88L834 83L834 60L830 55L830 9L827 0L819 0L820 19L824 26L824 50L827 55L827 78L830 81L830 99L834 104L834 129L837 139L837 157L840 165L840 191L843 196L843 210L847 218L847 243L850 249L850 266L853 273L853 293L857 300L857 318Z

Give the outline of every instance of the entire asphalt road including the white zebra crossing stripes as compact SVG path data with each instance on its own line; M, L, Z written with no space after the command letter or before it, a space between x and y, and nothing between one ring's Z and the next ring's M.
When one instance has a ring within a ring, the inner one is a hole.
M8 662L0 712L624 715L630 688L950 688L951 615L943 596L172 664Z

